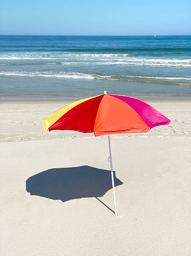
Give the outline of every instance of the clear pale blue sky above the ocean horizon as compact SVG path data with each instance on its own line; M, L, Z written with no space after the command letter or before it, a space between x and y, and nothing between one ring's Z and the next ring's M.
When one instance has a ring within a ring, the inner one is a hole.
M190 0L1 0L1 35L190 35Z

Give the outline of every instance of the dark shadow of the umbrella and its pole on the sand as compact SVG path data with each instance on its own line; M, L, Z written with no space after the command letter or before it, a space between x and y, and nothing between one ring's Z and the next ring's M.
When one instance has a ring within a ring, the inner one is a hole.
M123 182L115 177L115 172L113 175L115 187L122 185ZM26 189L30 195L63 202L85 197L98 199L112 189L111 171L90 166L48 169L29 177Z

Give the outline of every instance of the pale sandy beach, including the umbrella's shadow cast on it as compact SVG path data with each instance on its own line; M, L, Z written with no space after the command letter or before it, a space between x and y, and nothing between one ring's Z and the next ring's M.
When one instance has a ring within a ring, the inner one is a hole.
M1 255L190 256L191 103L147 134L44 131L63 101L0 102Z

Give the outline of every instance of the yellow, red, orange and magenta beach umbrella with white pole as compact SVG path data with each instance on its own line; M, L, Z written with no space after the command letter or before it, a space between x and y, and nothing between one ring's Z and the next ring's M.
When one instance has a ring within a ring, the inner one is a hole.
M73 102L44 121L45 130L73 130L108 136L115 215L116 201L110 135L147 133L152 128L168 125L170 120L141 100L122 95L98 95Z

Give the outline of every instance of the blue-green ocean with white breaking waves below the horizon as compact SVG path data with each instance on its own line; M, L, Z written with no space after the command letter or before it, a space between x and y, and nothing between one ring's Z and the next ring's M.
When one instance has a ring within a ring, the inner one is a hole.
M191 36L0 36L0 100L191 96Z

